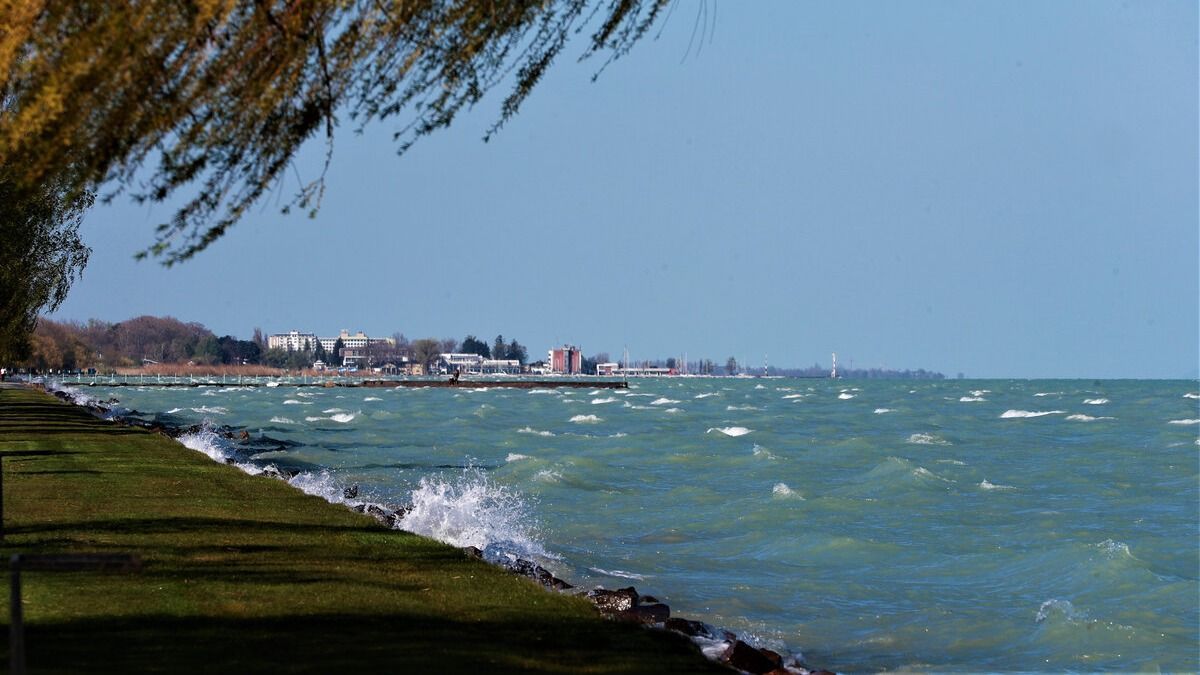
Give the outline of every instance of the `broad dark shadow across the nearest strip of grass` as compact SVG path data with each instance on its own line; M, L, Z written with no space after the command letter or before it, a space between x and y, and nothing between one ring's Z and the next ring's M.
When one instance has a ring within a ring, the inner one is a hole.
M689 658L695 647L676 635L527 614L498 622L347 608L278 619L38 625L35 611L29 620L31 673L727 673ZM0 653L7 659L7 645Z

